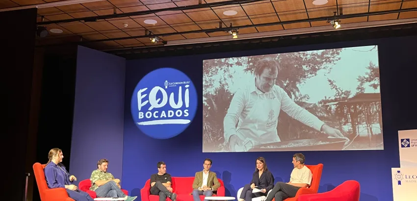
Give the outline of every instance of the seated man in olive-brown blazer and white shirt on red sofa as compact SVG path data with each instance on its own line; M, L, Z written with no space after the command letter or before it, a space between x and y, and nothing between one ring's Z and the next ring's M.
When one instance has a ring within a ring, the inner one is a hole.
M192 193L194 201L200 201L200 195L204 195L205 197L213 195L213 191L216 191L220 187L216 173L210 171L211 163L211 159L206 158L203 163L203 171L195 174Z

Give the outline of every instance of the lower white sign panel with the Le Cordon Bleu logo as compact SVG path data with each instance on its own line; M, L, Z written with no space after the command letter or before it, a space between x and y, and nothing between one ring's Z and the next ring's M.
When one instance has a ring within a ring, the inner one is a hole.
M393 201L417 198L417 168L391 168Z

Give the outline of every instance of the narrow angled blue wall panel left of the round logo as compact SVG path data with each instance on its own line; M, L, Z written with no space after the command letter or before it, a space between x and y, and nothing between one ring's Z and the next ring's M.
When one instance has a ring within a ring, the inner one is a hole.
M101 158L122 177L125 66L125 58L78 47L70 157L76 185L90 178Z

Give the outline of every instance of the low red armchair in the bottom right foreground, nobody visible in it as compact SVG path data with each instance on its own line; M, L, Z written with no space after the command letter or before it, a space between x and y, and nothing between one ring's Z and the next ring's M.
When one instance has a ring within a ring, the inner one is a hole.
M298 201L359 201L360 194L361 185L359 182L348 180L325 193L301 195Z

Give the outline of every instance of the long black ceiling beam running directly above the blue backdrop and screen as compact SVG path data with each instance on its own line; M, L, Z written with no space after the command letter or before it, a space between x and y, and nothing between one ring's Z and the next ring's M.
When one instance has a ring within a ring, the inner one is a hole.
M376 34L377 33L377 34ZM390 25L369 27L361 29L350 29L340 31L330 31L322 33L298 34L291 36L277 36L262 39L247 40L229 40L227 42L213 42L204 44L187 44L178 46L147 46L142 49L112 49L101 50L107 53L115 54L127 59L154 58L154 57L172 57L181 55L195 55L206 53L220 53L243 50L260 50L268 48L284 48L288 46L308 46L313 44L347 42L368 39L381 39L388 37L416 36L417 24L407 25ZM378 45L375 41L365 41L365 45ZM335 44L336 45L336 44ZM336 45L335 48L344 46Z

